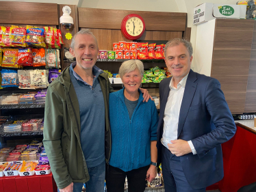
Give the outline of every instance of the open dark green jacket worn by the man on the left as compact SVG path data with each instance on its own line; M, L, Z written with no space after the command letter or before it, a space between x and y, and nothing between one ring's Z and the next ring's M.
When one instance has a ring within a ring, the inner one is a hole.
M107 73L103 72L98 79L105 103L105 160L108 163L111 150L108 106L109 93L113 89ZM67 187L71 182L88 182L90 179L80 133L79 103L68 66L49 85L44 109L43 143L59 189Z

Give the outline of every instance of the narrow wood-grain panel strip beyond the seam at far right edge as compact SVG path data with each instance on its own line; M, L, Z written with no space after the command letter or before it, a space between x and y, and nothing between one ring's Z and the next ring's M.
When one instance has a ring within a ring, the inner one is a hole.
M256 112L256 23L253 29L253 44L251 49L251 60L248 74L244 112Z

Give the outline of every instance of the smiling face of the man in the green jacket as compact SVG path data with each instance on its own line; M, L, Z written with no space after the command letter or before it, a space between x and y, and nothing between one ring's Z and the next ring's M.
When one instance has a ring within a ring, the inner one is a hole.
M77 66L81 69L92 69L97 61L99 49L95 38L90 34L77 34L74 49L71 54L77 60Z

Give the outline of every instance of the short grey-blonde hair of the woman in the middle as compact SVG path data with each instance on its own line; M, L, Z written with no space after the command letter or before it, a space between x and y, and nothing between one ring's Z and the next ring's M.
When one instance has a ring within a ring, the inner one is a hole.
M138 68L138 70L140 71L140 74L143 76L144 66L142 61L138 59L131 59L123 62L123 64L119 68L119 74L121 79L126 73L132 72L133 70L136 70L136 68Z

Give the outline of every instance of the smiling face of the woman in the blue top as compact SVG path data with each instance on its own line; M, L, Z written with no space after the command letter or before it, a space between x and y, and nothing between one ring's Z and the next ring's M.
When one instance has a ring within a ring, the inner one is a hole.
M140 74L140 70L136 68L131 72L127 72L122 77L123 84L125 86L125 92L128 94L138 94L138 89L140 88L140 84L142 82L142 74Z

